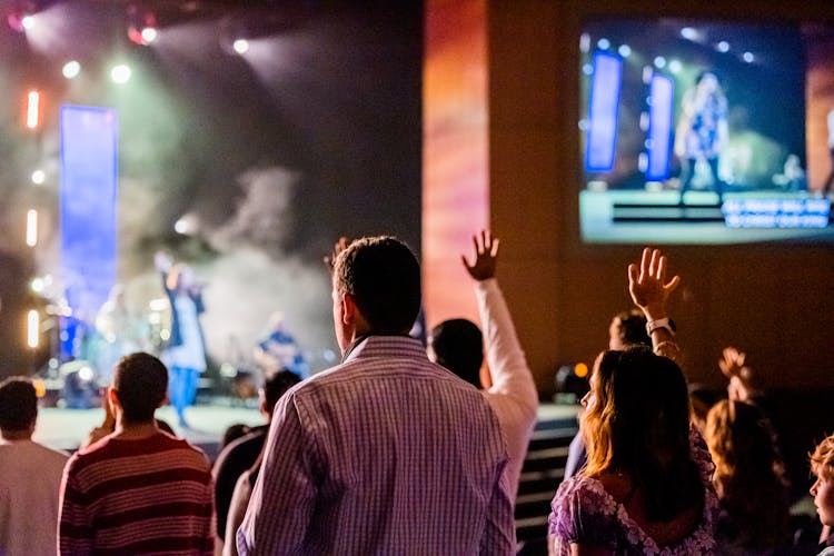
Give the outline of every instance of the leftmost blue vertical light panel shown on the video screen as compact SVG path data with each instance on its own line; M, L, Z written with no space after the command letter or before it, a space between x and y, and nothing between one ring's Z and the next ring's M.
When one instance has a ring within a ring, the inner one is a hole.
M594 54L588 103L588 140L585 150L587 171L614 169L622 76L623 60L619 57L606 52Z

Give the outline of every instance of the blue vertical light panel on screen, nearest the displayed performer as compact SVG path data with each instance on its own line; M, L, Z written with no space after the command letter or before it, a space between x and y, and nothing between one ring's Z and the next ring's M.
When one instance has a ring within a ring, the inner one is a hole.
M648 168L646 179L658 181L669 177L672 111L675 86L672 78L655 73L648 89Z

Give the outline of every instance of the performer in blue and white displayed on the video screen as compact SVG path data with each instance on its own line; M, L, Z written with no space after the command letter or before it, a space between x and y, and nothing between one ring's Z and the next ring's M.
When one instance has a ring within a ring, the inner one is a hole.
M679 205L684 205L684 195L692 186L695 163L699 159L709 166L718 202L723 202L724 182L718 177L718 157L727 142L727 98L715 73L704 71L695 80L695 87L684 92L675 132L675 155L681 160Z

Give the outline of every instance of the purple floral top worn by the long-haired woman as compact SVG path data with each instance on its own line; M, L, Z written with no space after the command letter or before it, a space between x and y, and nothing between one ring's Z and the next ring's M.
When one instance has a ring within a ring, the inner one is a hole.
M658 546L632 519L598 480L582 474L559 486L550 504L549 532L555 537L555 554L570 554L572 543L607 546L617 555L697 556L715 553L714 528L718 498L713 488L715 466L695 428L689 429L693 458L704 485L704 513L691 535L674 545Z

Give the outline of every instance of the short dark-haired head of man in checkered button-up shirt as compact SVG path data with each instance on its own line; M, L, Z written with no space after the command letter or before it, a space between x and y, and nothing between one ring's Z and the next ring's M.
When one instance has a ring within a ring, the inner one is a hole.
M408 332L420 309L420 266L393 237L353 241L336 258L334 287L350 294L376 332Z

